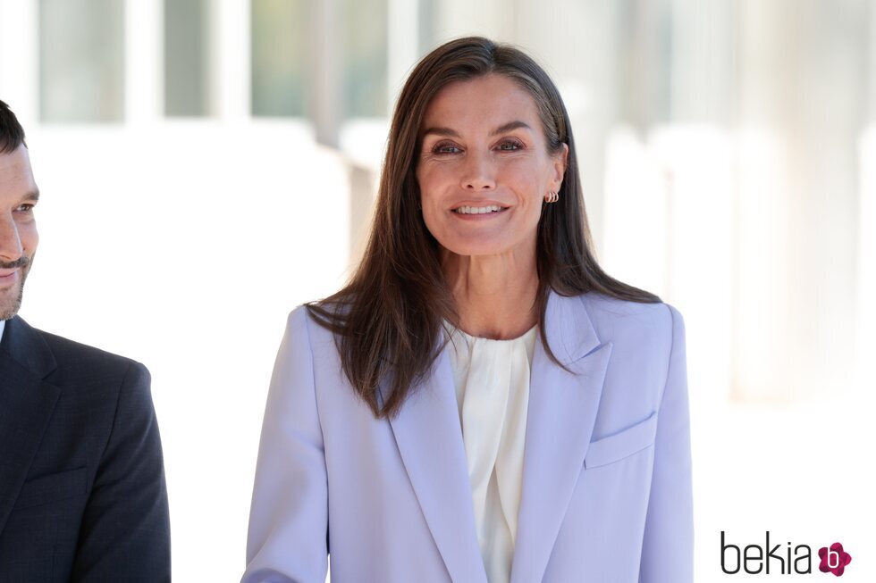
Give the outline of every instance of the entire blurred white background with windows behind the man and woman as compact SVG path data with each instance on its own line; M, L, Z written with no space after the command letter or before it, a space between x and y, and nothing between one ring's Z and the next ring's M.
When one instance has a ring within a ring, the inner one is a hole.
M697 580L769 530L872 581L874 32L872 0L0 0L42 191L21 315L147 364L174 579L239 579L285 314L355 262L406 73L514 42L603 266L685 316Z

